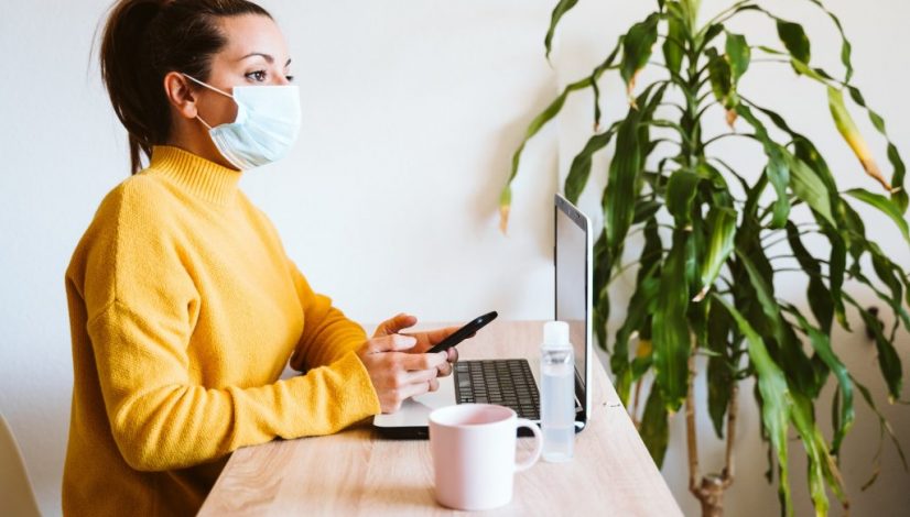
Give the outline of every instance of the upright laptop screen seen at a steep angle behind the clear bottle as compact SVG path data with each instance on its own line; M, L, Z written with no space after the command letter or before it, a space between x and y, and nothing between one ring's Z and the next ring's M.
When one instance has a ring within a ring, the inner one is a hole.
M589 317L588 253L589 224L587 218L565 198L556 197L556 319L568 323L570 340L575 349L576 396L581 407L585 405L585 372L587 372Z

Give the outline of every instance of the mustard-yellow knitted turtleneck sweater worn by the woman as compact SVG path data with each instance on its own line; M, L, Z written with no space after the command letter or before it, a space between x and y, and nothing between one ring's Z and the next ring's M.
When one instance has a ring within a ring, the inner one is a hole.
M239 179L155 147L76 248L64 514L191 515L237 448L379 413L364 330L313 293ZM279 381L289 359L306 373Z

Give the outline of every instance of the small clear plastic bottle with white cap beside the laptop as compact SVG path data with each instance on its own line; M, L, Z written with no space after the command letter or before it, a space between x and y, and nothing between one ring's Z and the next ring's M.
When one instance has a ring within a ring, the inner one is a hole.
M564 321L544 323L540 367L543 459L568 461L575 446L575 360Z

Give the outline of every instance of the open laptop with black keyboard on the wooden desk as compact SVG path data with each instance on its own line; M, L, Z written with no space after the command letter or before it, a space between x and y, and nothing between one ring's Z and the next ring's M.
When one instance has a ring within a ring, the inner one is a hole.
M591 415L592 286L594 245L591 221L561 195L554 197L555 270L554 319L570 327L575 348L575 432ZM540 356L539 340L529 342L527 356ZM469 344L468 344L469 345ZM378 415L373 427L380 436L426 439L433 409L455 404L485 403L508 406L519 417L540 424L540 360L495 359L458 361L452 375L440 378L440 389L405 400L391 415ZM528 432L520 429L519 433Z

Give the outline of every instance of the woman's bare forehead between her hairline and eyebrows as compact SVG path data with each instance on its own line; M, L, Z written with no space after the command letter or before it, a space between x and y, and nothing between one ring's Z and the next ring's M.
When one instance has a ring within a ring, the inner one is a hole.
M266 54L283 65L290 57L284 35L269 16L223 16L218 23L227 37L227 45L220 54L230 61L241 59L249 54Z

